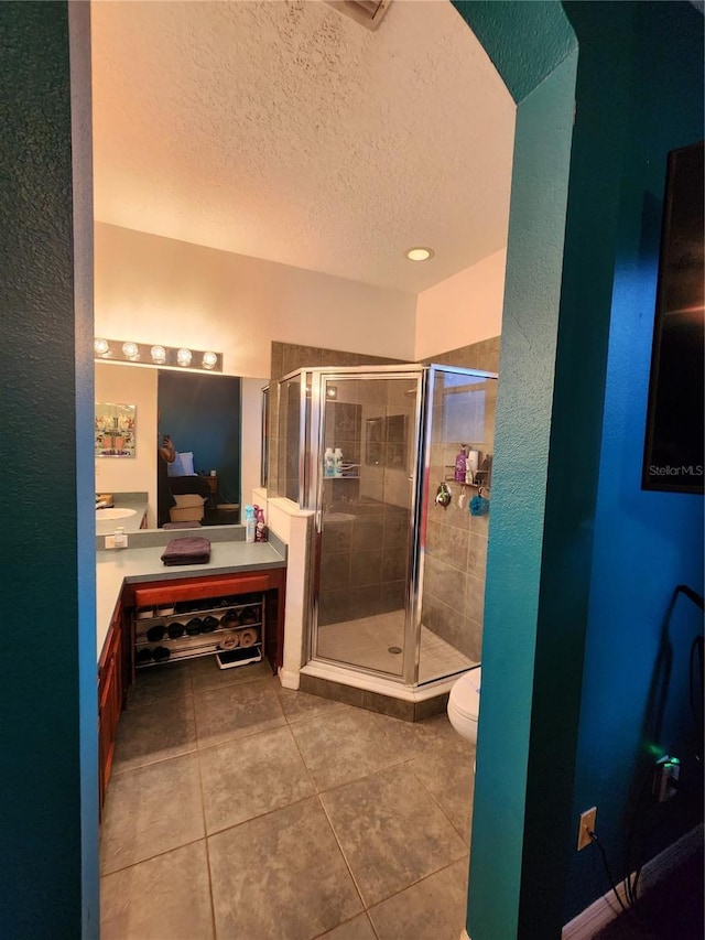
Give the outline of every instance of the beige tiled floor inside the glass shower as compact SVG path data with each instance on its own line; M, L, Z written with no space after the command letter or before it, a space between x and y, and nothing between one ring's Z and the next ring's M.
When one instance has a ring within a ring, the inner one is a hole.
M391 611L357 620L318 627L317 656L365 669L401 676L404 644L404 612ZM390 652L399 649L399 652ZM419 681L430 682L477 666L451 644L421 627Z

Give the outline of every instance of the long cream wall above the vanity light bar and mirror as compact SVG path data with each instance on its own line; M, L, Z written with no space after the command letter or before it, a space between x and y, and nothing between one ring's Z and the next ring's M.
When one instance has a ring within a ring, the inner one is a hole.
M411 359L416 296L96 223L97 336L216 349L270 374L270 343Z

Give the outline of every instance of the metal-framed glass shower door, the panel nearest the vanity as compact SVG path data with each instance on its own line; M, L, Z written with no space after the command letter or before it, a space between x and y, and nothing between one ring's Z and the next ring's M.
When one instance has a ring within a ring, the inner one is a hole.
M318 388L318 591L312 651L317 659L399 679L408 629L421 375L323 374Z

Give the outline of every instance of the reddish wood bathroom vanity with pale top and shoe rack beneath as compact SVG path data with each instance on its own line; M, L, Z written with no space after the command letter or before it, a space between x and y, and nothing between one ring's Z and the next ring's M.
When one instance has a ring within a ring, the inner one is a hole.
M275 540L247 543L234 539L232 531L229 527L226 538L218 540L223 532L202 530L209 539L213 534L206 564L164 566L161 554L166 542L185 534L176 531L140 533L133 548L97 552L100 806L120 713L140 670L204 656L214 660L220 656L221 668L247 668L262 658L273 671L281 666L285 547ZM239 528L236 531L241 534ZM212 620L204 630L207 617ZM195 619L202 620L200 628L196 633L192 625L187 633L186 624ZM158 648L167 652L155 658ZM247 650L239 660L237 649Z

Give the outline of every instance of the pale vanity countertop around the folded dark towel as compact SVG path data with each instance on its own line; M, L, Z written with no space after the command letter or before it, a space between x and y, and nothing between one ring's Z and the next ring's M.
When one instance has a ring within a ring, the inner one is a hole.
M198 534L207 538L207 530L172 532L172 538ZM110 622L123 584L145 581L174 581L204 574L236 574L285 568L285 549L269 542L212 541L210 561L207 564L180 564L167 566L161 555L169 538L162 544L144 548L112 549L96 552L96 630L98 658L110 628Z

